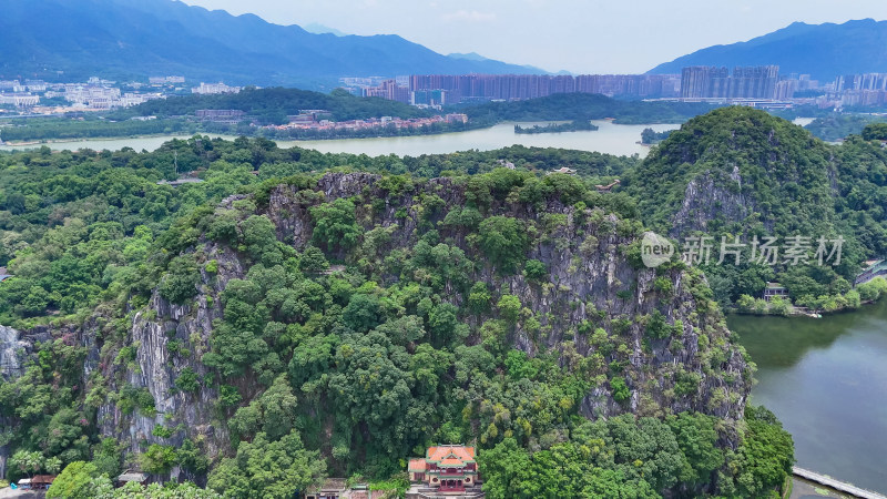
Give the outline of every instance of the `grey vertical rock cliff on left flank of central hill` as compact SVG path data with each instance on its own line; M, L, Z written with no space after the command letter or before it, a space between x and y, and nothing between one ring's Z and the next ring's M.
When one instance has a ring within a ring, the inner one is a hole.
M222 316L213 304L218 303L218 294L231 278L244 275L239 259L230 248L207 244L205 251L204 261L217 259L218 273L201 272L194 304L171 304L155 292L147 306L132 318L131 345L137 347L133 367L121 371L119 366L109 365L104 369L105 378L112 380L111 389L124 385L146 388L154 399L153 415L143 410L123 414L110 399L99 408L102 435L125 442L132 452L143 451L151 444L179 446L186 437L202 442L210 457L227 449L227 429L215 409L217 390L205 386L188 393L175 386L175 379L186 368L200 378L210 375L200 359L210 349L213 320ZM179 347L172 348L173 343ZM172 429L172 435L159 436L157 427Z

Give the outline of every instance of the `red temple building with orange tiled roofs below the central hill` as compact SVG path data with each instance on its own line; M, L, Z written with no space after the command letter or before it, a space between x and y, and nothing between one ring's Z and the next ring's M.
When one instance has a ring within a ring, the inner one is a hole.
M465 492L480 480L475 448L466 446L429 447L425 459L409 460L410 481L425 482L439 492Z

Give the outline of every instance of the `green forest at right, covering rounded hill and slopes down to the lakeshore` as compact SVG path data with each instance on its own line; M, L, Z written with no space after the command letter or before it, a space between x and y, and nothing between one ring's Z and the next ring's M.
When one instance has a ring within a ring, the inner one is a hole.
M874 284L852 289L864 261L887 255L887 151L879 141L850 135L832 146L763 111L725 108L685 123L628 173L622 185L649 226L679 240L704 234L720 249L722 238L802 236L809 255L819 237L846 240L839 265L788 265L784 254L775 265L752 262L751 246L740 265L718 265L714 253L703 268L724 306L766 308L750 299L768 281L785 285L796 305L827 312L883 292Z

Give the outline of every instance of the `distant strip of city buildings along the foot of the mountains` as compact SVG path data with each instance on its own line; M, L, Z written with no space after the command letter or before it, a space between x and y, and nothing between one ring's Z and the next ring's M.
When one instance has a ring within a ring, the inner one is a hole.
M104 111L172 95L213 95L242 90L242 86L224 82L196 85L181 75L149 77L146 81L0 79L0 115ZM845 74L830 82L819 82L810 79L809 74L781 74L777 65L687 67L681 74L412 74L341 78L339 81L341 88L358 96L438 110L450 104L519 101L558 93L706 101L764 109L887 106L887 73ZM238 120L237 116L206 119ZM319 123L320 120L316 121Z

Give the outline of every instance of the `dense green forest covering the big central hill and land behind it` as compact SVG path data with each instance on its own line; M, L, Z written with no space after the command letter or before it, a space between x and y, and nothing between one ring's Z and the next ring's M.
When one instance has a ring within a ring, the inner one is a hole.
M159 184L174 155L203 182ZM792 440L743 416L753 367L712 291L644 269L638 202L594 189L639 166L200 136L0 154L0 324L44 335L0 381L7 478L98 497L177 467L208 488L182 493L290 497L468 442L491 498L777 497Z

